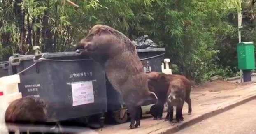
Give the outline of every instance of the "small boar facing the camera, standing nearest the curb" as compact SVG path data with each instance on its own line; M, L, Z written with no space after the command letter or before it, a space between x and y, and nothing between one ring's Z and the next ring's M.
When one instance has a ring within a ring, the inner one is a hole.
M181 75L168 75L170 79L170 85L168 89L168 111L165 120L172 122L173 120L173 106L176 106L176 121L184 120L182 115L182 108L184 101L188 104L188 114L192 112L191 108L191 83L185 76Z

